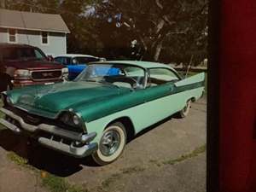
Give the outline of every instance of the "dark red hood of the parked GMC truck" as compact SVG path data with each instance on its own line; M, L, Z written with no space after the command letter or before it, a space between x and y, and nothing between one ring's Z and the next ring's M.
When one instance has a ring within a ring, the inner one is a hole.
M44 69L61 69L64 66L52 61L5 61L7 67L15 67L19 69L28 69L28 70L44 70Z

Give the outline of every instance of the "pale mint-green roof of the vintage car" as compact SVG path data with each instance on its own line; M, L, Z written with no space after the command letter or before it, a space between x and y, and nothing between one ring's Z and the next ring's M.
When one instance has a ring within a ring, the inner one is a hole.
M133 65L137 67L143 67L143 68L168 68L176 71L172 67L159 63L159 62L150 62L150 61L98 61L98 62L93 62L93 63L110 63L110 64L124 64L124 65Z

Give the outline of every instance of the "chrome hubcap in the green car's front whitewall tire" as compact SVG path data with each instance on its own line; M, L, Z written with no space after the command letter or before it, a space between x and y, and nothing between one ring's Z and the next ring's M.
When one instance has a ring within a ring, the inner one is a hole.
M114 154L119 148L120 136L117 131L107 131L104 133L101 143L100 150L105 156Z

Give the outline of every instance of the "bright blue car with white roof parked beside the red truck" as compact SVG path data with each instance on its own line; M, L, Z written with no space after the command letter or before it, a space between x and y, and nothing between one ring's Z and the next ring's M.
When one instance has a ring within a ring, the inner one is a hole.
M55 61L68 67L68 79L73 80L84 70L89 62L106 61L106 59L92 55L66 54L56 56Z

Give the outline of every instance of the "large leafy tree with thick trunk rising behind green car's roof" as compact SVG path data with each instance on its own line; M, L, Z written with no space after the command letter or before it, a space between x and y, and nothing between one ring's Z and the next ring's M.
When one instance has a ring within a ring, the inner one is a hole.
M115 31L125 28L130 42L137 40L140 59L158 61L164 46L172 50L174 38L181 41L176 40L173 49L181 42L185 47L197 44L195 38L200 39L206 28L206 8L204 0L108 0L97 4L96 10L101 18L115 20L113 25L119 28Z

